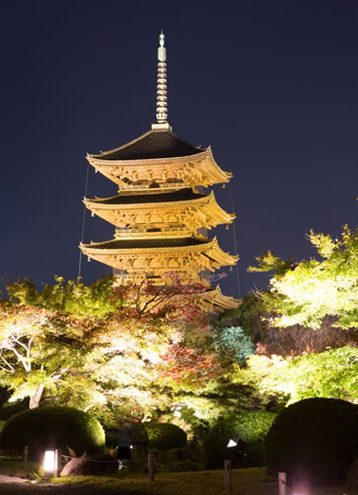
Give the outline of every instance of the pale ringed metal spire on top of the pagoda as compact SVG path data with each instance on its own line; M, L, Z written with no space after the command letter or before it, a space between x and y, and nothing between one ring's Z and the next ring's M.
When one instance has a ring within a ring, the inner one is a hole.
M159 47L157 51L157 79L156 79L156 125L153 128L167 128L167 64L166 49L164 47L164 32L159 35Z

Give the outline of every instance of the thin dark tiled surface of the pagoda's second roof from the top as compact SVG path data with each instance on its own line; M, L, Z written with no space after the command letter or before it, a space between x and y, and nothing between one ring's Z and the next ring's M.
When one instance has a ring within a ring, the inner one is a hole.
M161 194L141 194L141 195L118 195L107 198L89 199L91 203L100 205L136 205L146 203L176 203L189 201L191 199L200 199L205 197L205 194L194 193L191 188L175 191L172 193Z

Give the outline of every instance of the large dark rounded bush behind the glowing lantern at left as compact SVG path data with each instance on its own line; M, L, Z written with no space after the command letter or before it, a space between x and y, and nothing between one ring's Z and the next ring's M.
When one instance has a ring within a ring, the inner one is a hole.
M22 451L29 446L31 458L44 450L71 447L78 455L100 453L105 445L100 422L74 407L39 407L15 414L1 432L4 450Z

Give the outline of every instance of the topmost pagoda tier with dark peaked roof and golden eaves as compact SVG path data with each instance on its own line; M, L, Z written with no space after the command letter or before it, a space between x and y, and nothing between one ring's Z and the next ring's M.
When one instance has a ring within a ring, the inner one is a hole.
M174 191L208 187L229 182L232 174L216 164L210 147L201 149L177 138L171 130L151 130L118 148L87 155L95 171L120 191Z

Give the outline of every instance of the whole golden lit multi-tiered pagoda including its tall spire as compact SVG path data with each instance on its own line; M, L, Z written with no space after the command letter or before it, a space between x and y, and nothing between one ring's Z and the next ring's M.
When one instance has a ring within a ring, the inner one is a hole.
M150 131L115 149L88 154L94 168L117 184L118 194L85 198L86 207L115 227L114 238L80 244L89 259L113 268L116 284L138 284L143 278L165 285L168 274L181 284L201 282L195 295L203 308L235 308L233 297L213 288L209 274L234 265L239 257L225 252L207 231L233 222L205 190L227 183L231 173L216 164L210 147L193 146L178 138L167 121L166 49L159 36L156 123Z

